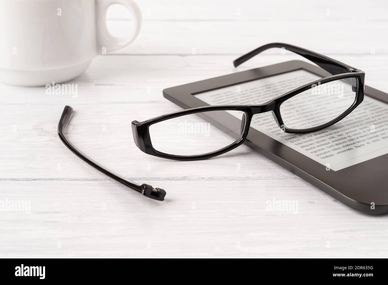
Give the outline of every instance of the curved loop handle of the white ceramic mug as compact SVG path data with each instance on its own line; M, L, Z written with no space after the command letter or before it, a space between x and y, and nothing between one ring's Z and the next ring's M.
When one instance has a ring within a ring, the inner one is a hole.
M129 37L116 37L109 33L106 26L106 12L110 5L121 4L126 9L132 11L135 16L136 29L132 36ZM97 18L97 39L100 45L100 49L106 48L106 52L113 52L123 48L139 35L140 27L142 25L142 13L139 6L132 0L97 0L96 1L96 18Z

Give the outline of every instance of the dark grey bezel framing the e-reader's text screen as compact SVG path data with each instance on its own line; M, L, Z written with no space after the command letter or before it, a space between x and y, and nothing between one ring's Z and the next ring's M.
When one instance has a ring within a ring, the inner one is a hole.
M184 109L208 106L193 95L299 69L322 78L331 75L318 66L291 60L166 88L163 96ZM387 93L369 86L365 86L364 95L388 104ZM388 213L388 154L337 171L327 171L326 166L252 127L244 143L353 209L368 214Z

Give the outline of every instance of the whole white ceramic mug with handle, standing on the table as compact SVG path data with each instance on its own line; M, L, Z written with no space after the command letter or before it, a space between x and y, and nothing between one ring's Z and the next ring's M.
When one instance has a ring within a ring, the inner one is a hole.
M112 4L135 17L128 38L107 29ZM96 55L129 45L140 26L141 12L132 0L0 0L0 81L17 86L69 81Z

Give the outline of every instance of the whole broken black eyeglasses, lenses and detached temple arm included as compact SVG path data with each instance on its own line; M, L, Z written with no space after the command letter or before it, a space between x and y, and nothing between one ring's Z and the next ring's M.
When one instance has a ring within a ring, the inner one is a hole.
M167 159L208 159L244 143L255 114L272 112L275 122L285 133L310 133L337 123L364 100L363 71L304 48L270 43L239 57L233 64L237 67L269 48L284 48L294 52L332 75L302 85L261 105L206 106L173 112L144 122L133 121L132 133L137 147L146 154ZM73 109L66 106L58 124L59 137L66 147L114 180L147 197L164 200L165 190L126 180L71 145L64 130L72 112Z

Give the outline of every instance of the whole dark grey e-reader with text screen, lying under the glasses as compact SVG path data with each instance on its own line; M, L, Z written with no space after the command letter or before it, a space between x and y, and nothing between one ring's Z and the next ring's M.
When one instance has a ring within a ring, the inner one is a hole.
M292 60L166 88L163 96L184 109L263 104L330 75ZM352 113L314 133L284 133L270 112L256 116L246 145L353 209L388 212L388 94L365 86L364 101Z

